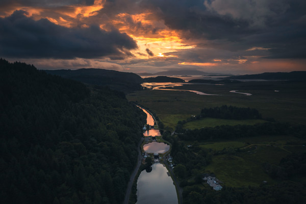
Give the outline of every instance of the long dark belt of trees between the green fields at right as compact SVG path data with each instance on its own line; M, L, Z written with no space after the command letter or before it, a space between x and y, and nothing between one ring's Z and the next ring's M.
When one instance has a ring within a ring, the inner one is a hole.
M235 139L261 135L293 135L295 137L305 138L306 126L278 122L266 122L254 125L220 125L186 130L178 136L181 140L200 142L204 140Z

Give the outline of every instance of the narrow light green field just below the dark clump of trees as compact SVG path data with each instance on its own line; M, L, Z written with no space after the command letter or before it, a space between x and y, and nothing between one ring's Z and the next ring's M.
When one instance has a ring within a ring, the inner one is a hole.
M200 120L193 120L184 124L184 129L201 129L202 127L214 127L217 125L238 125L247 124L253 125L256 123L266 122L265 120L259 119L248 119L248 120L226 120L219 118L203 118Z

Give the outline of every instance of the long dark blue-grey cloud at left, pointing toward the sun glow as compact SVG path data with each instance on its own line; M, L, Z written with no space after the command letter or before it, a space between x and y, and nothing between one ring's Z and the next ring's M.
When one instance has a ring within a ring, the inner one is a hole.
M65 28L47 19L33 20L25 11L0 18L0 55L3 57L123 59L131 56L136 42L117 30L106 32L98 27Z

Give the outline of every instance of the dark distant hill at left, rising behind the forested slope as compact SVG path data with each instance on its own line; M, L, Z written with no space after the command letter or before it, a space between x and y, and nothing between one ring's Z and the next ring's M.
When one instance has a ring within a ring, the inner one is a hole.
M111 89L130 92L141 89L142 78L131 72L120 72L108 69L59 69L45 70L47 73L63 78L76 80L85 84L109 86Z

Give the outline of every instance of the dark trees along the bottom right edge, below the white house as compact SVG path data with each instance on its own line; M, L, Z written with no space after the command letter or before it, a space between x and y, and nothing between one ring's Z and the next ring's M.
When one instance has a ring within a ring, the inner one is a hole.
M275 185L259 187L231 188L223 187L221 191L200 189L187 186L183 191L184 204L204 203L305 203L306 192L301 183L286 181Z

